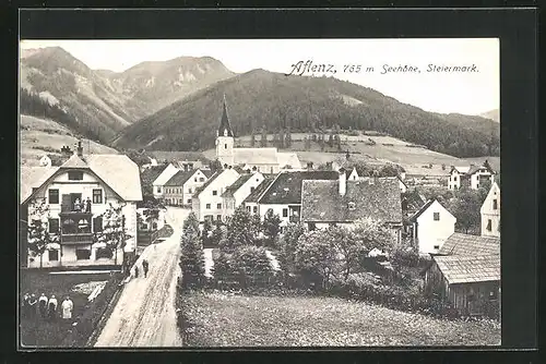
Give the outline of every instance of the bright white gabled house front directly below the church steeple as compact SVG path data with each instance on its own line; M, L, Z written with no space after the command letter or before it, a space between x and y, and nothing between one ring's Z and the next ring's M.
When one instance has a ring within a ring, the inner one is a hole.
M202 186L198 187L192 198L192 211L203 222L223 220L224 201L222 194L240 174L233 168L216 171Z

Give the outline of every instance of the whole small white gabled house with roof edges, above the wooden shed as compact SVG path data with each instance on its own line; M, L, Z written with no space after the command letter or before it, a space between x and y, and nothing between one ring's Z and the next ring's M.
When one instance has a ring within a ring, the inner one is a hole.
M428 201L410 217L410 234L419 254L436 254L455 232L456 218L437 199Z

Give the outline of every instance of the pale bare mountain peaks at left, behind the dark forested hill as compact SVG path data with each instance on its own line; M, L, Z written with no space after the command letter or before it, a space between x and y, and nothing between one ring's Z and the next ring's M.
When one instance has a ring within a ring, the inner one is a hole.
M92 70L60 47L21 52L21 87L72 116L79 132L108 144L126 126L233 72L209 57Z

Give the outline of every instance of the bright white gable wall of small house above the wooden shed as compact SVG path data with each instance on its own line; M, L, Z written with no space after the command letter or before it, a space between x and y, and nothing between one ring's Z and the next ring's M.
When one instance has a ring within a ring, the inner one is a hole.
M439 220L435 221L435 213ZM417 218L417 242L420 254L438 253L446 240L455 232L456 218L435 201Z

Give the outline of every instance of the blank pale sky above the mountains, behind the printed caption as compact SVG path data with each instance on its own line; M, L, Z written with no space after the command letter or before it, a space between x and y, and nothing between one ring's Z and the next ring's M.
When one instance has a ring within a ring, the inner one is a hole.
M143 61L182 56L212 57L236 73L253 69L290 73L294 64L311 61L333 64L331 70L336 73L325 75L373 88L427 111L479 114L500 108L498 38L21 40L24 49L52 46L62 47L91 69L116 72ZM360 72L348 72L351 65L358 64ZM427 72L429 64L474 71ZM385 73L385 65L408 65L420 72Z

